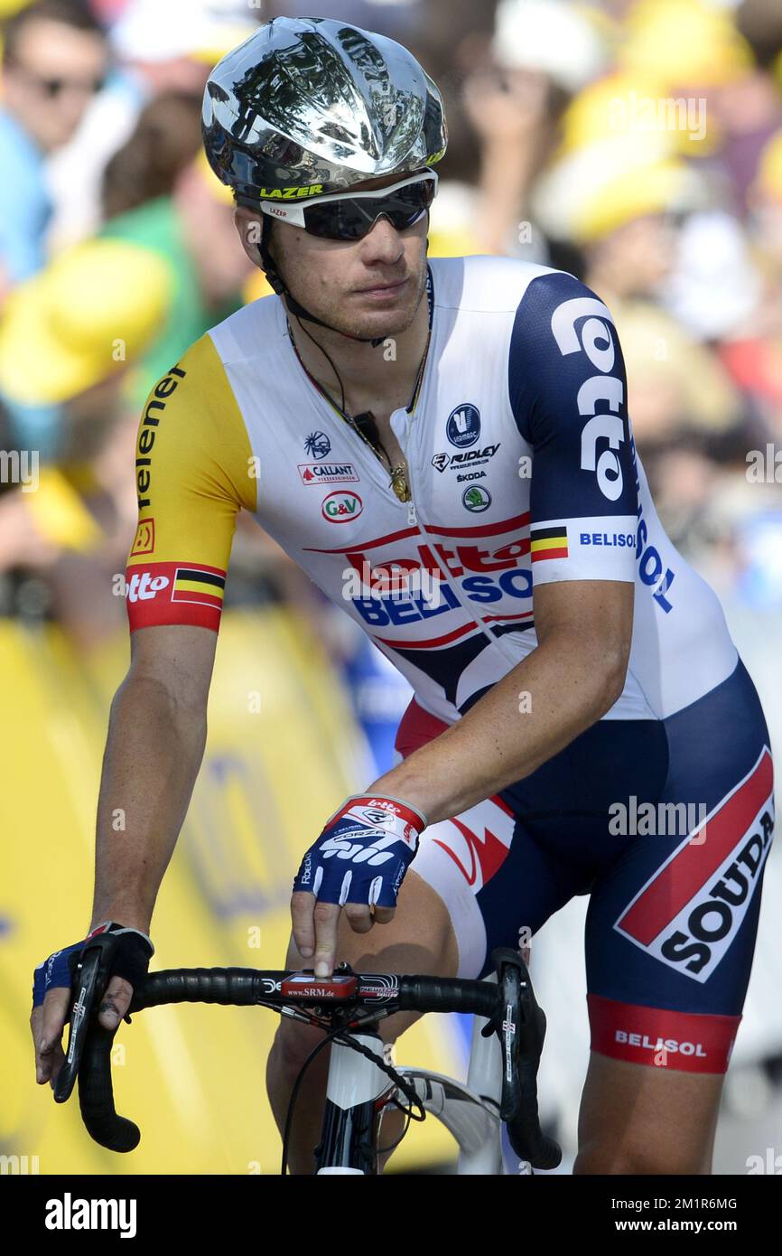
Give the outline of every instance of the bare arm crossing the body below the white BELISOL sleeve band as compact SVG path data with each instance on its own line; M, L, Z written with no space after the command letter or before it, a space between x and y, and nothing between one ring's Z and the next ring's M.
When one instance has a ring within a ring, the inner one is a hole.
M377 780L370 793L412 803L433 824L528 776L620 696L633 597L629 582L540 585L537 649L458 723Z

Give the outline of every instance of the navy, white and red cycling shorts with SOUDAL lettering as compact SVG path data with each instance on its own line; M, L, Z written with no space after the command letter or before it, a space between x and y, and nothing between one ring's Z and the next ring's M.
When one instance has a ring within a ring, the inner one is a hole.
M413 701L397 750L444 728ZM462 977L487 976L495 947L518 947L589 894L591 1050L724 1073L772 830L768 730L739 659L675 715L601 720L510 789L432 824L413 868L449 911Z

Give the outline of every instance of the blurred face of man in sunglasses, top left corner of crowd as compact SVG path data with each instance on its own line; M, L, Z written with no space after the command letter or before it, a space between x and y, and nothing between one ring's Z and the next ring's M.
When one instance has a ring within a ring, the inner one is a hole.
M30 21L4 68L5 99L44 152L67 143L105 74L100 35L59 21Z

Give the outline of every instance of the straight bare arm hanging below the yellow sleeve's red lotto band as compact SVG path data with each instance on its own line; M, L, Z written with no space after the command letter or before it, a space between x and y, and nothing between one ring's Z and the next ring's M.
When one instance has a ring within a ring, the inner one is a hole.
M113 919L148 933L203 757L217 634L168 624L131 643L103 757L90 928Z

